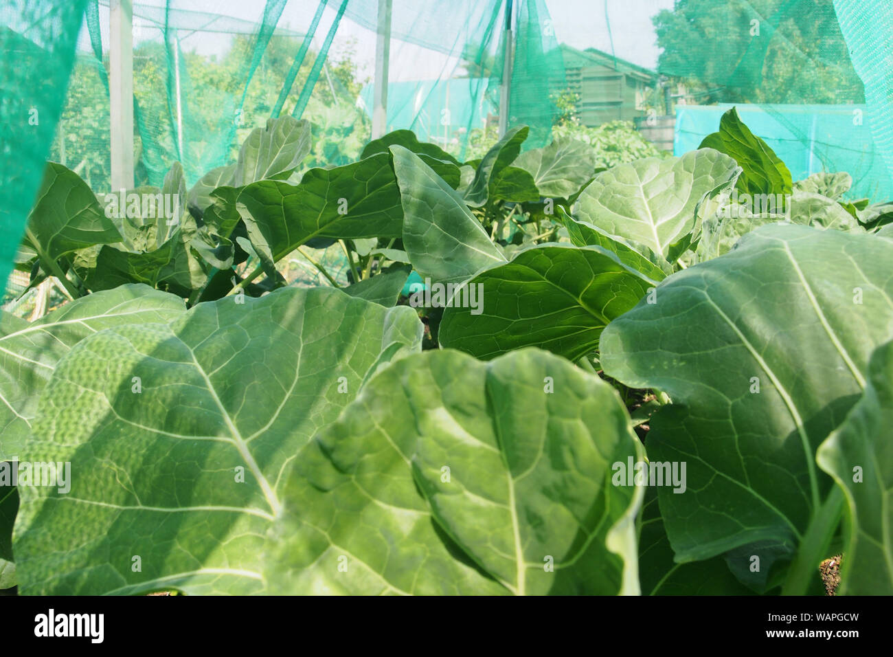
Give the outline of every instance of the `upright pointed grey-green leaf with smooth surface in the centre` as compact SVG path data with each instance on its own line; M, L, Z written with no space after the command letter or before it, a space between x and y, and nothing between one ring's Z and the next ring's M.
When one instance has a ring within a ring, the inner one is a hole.
M505 262L455 190L406 148L393 146L391 152L403 205L403 244L421 276L462 282Z

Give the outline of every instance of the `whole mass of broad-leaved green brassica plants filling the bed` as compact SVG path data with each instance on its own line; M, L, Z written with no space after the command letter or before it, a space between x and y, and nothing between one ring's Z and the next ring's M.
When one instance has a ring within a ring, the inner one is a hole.
M48 164L18 266L71 301L0 314L0 588L817 594L842 553L893 593L890 204L734 110L605 170L526 136L305 169L284 117L131 190L163 216Z

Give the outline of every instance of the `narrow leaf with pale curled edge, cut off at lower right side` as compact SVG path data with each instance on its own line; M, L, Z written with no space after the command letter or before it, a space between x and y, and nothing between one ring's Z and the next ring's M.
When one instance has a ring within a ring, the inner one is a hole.
M874 351L864 396L818 451L849 516L838 594L893 594L893 342Z

